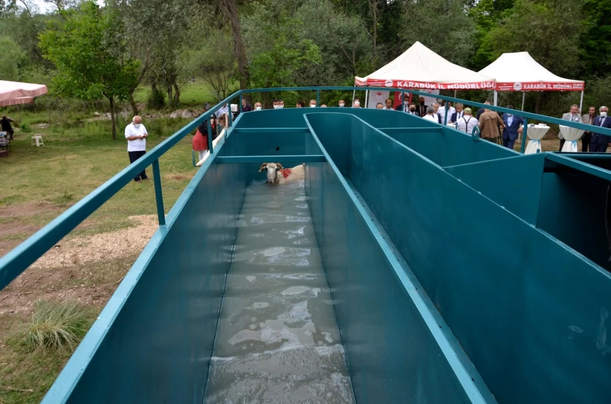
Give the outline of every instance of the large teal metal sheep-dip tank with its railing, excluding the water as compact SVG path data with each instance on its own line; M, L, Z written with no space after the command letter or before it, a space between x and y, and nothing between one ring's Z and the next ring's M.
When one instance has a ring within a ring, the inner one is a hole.
M203 402L245 190L268 161L305 162L357 403L609 402L610 156L524 155L391 110L254 111L164 215L159 157L267 90L225 99L0 259L4 287L153 165L159 228L43 403Z

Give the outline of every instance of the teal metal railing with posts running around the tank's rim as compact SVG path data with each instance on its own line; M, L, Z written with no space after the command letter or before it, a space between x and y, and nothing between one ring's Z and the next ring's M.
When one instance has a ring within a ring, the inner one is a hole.
M214 107L206 111L204 114L197 117L195 120L191 121L191 123L187 124L179 131L175 132L175 134L168 137L163 142L159 143L159 145L155 146L152 150L148 151L144 156L142 156L137 161L128 165L128 167L121 170L117 175L114 175L111 179L104 182L100 187L93 190L89 195L82 198L82 200L78 201L78 203L71 206L67 211L60 214L54 220L52 220L48 225L44 226L42 229L38 230L31 237L25 240L23 243L18 245L12 251L7 253L5 256L0 258L0 289L7 286L13 279L15 279L21 272L27 269L29 265L34 263L42 254L44 254L49 248L56 245L59 240L61 240L64 236L66 236L70 231L72 231L76 226L78 226L83 220L85 220L89 215L95 212L102 204L112 198L119 190L126 186L126 184L130 183L137 173L140 173L145 170L150 165L153 165L153 181L155 182L155 199L157 205L157 215L159 220L159 226L166 226L166 215L164 211L163 204L163 190L161 186L161 173L159 171L159 157L163 156L167 151L172 148L172 146L176 145L181 139L183 139L186 135L188 135L193 129L197 128L200 123L207 120L208 121L208 145L210 145L210 156L213 157L216 153L214 151L213 139L212 139L212 131L210 127L210 115L218 112L219 109L224 104L229 104L230 101L234 98L240 98L240 112L242 112L242 103L241 98L243 94L246 93L260 93L260 92L278 92L278 91L316 91L316 100L320 101L320 93L322 91L335 91L335 90L382 90L382 91L392 91L392 92L408 92L415 95L422 96L430 96L428 93L423 93L414 90L406 90L401 88L386 88L386 87L280 87L280 88L255 88L250 90L239 90L238 92L233 93L228 96L220 103L216 104ZM552 118L545 117L543 115L532 114L530 112L522 112L516 111L513 109L507 109L503 107L485 105L481 103L474 103L472 101L467 101L460 98L453 98L444 95L436 95L437 98L444 99L445 101L452 101L454 103L463 103L468 104L470 106L475 107L485 107L491 110L495 110L497 112L510 112L511 114L521 115L525 118L525 126L524 126L524 134L523 137L526 137L526 131L528 127L528 119L544 121L554 124L560 124L565 126L570 126L573 128L584 129L588 131L595 131L599 134L610 135L611 129L606 128L598 128L595 126L591 126L585 123L578 122L570 122L565 121L560 118ZM317 103L317 104L320 104ZM447 110L447 108L446 108ZM398 112L399 113L399 112ZM447 114L446 114L447 117ZM231 131L232 126L232 114L228 114L229 122L228 122L228 132ZM447 118L446 118L447 119ZM473 134L474 139L478 139L478 134ZM524 143L524 141L522 142ZM611 156L610 156L611 157Z

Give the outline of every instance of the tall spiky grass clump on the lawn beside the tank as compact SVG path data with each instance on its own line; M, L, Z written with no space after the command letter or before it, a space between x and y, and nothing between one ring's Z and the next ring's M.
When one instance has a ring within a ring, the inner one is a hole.
M76 303L38 300L27 325L25 344L31 352L66 347L73 350L90 325L90 312Z

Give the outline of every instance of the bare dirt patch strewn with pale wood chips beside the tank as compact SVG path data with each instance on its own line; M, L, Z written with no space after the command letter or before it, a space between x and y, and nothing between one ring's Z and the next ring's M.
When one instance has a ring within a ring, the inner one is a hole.
M0 290L0 315L31 311L42 298L106 303L157 229L155 215L130 220L130 228L57 243Z

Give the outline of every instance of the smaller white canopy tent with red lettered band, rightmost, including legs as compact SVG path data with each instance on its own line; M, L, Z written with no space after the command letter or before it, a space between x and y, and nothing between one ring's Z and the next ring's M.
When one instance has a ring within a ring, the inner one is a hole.
M496 78L494 105L497 104L497 92L521 91L522 110L527 91L580 91L579 109L584 103L584 82L565 79L547 70L529 52L503 53L499 59L479 71L480 74Z

